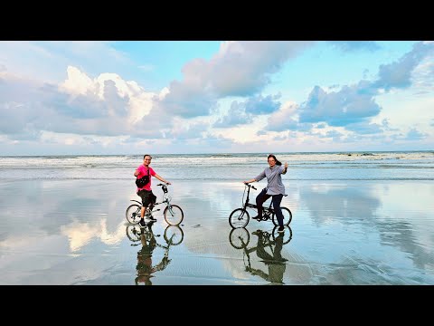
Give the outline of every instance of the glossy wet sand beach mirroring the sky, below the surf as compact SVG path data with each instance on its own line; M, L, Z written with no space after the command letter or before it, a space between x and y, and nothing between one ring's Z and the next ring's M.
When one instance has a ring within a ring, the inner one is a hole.
M434 283L432 181L287 180L285 186L282 206L293 220L278 238L269 221L250 219L232 231L228 217L241 206L241 181L174 181L169 191L184 221L166 230L156 212L158 245L150 258L159 270L148 281ZM153 189L160 201L161 189L156 183ZM252 195L254 201L257 192ZM137 279L142 245L125 218L130 199L139 197L129 180L1 180L0 284L143 284ZM167 249L165 232L179 243Z

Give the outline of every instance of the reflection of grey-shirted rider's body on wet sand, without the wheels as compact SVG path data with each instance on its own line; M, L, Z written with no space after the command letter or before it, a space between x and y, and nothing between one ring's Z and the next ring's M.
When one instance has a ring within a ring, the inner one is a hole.
M258 235L258 245L256 247L256 254L258 257L262 259L262 263L268 265L269 273L264 273L259 269L248 268L248 271L253 275L259 275L264 280L269 281L271 283L283 283L283 273L285 273L285 269L287 265L285 264L288 259L285 259L281 255L282 246L283 246L283 234L279 234L276 238L274 251L271 245L271 252L273 255L267 253L265 250L265 243L268 240L264 237L262 231L258 230L252 232L252 235Z

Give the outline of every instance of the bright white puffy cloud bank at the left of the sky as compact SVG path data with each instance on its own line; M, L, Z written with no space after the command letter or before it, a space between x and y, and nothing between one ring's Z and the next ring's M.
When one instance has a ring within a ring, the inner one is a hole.
M146 92L117 74L92 79L75 67L59 85L4 74L0 83L0 132L26 139L37 130L94 136L161 138L172 117L156 111L161 94ZM21 136L18 136L21 134ZM25 136L24 134L27 134Z

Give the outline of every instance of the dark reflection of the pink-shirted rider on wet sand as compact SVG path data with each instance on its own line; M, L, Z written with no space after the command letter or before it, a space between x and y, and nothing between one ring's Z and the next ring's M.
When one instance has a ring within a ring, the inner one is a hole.
M167 257L167 252L163 260L156 266L152 265L152 253L156 248L156 237L152 233L152 223L148 225L149 232L143 232L140 235L140 241L142 242L142 249L137 253L137 277L136 285L138 283L145 283L145 285L152 285L151 277L154 277L152 273L157 271L163 271L167 264L170 263L170 259ZM147 236L147 237L146 237Z

